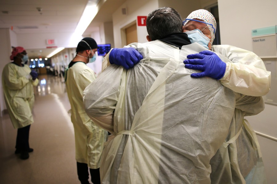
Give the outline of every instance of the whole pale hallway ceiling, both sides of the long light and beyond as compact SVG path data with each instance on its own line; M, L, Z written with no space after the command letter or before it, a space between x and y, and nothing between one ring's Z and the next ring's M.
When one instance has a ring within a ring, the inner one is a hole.
M101 22L112 22L112 13L125 1L100 0L102 6L84 34ZM17 34L73 33L88 2L97 4L99 0L0 0L0 28L11 28ZM30 58L35 58L46 57L53 50L26 51Z

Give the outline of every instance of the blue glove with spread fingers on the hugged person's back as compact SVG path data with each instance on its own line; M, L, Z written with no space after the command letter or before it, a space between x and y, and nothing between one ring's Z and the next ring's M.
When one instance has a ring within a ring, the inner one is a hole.
M192 73L192 77L208 76L216 80L224 76L226 70L226 63L213 52L204 50L200 53L190 54L184 61L185 68L201 70L201 73Z

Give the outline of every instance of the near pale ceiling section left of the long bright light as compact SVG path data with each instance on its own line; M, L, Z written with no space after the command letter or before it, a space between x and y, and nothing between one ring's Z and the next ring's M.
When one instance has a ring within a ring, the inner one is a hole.
M13 26L17 34L74 32L87 2L87 0L1 0L0 28ZM41 11L37 8L41 8Z

